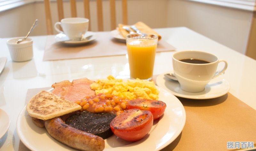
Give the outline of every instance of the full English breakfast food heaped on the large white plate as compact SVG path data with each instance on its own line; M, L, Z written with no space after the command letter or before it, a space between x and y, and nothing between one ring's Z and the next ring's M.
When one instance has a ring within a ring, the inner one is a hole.
M144 138L166 108L154 82L107 78L54 83L28 102L28 114L53 138L79 150L103 150L113 133L131 142Z

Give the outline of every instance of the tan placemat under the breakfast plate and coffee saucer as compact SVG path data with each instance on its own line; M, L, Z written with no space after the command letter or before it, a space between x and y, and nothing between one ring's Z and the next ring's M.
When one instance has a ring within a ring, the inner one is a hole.
M28 100L47 88L28 89ZM254 142L256 110L228 93L206 100L178 97L186 111L185 126L176 140L161 151L222 151L228 142ZM19 151L29 151L20 141Z

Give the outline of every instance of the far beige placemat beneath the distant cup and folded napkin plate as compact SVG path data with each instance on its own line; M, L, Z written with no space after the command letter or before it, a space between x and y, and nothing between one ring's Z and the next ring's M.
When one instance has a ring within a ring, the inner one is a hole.
M62 60L90 57L118 56L127 54L126 45L116 41L110 32L95 32L97 39L80 46L67 46L56 42L54 35L48 35L43 60ZM164 40L158 42L156 52L174 51Z

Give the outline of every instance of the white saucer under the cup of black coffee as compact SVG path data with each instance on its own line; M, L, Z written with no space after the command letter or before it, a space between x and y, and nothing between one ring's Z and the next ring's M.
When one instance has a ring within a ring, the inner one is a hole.
M221 75L212 79L201 92L187 92L180 88L180 83L172 79L168 79L164 74L165 72L156 77L156 85L162 87L175 96L188 99L212 99L220 97L228 93L230 85L226 79L221 78Z

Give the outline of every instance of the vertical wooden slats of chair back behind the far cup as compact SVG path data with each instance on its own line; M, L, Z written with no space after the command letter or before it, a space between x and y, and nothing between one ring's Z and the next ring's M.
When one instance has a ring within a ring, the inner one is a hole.
M84 17L90 19L90 0L83 0L84 3ZM98 18L98 31L103 31L103 12L102 12L102 0L96 0L97 2L97 18ZM109 0L110 3L110 22L111 30L116 28L116 5L115 0ZM64 18L63 0L57 0L57 9L59 15L59 21ZM53 34L52 31L52 16L50 9L50 0L44 0L45 17L47 34ZM70 0L71 17L77 17L76 0ZM122 19L123 24L127 24L127 0L122 0ZM90 19L91 20L91 19ZM90 21L90 26L91 26ZM90 30L89 26L89 30Z

